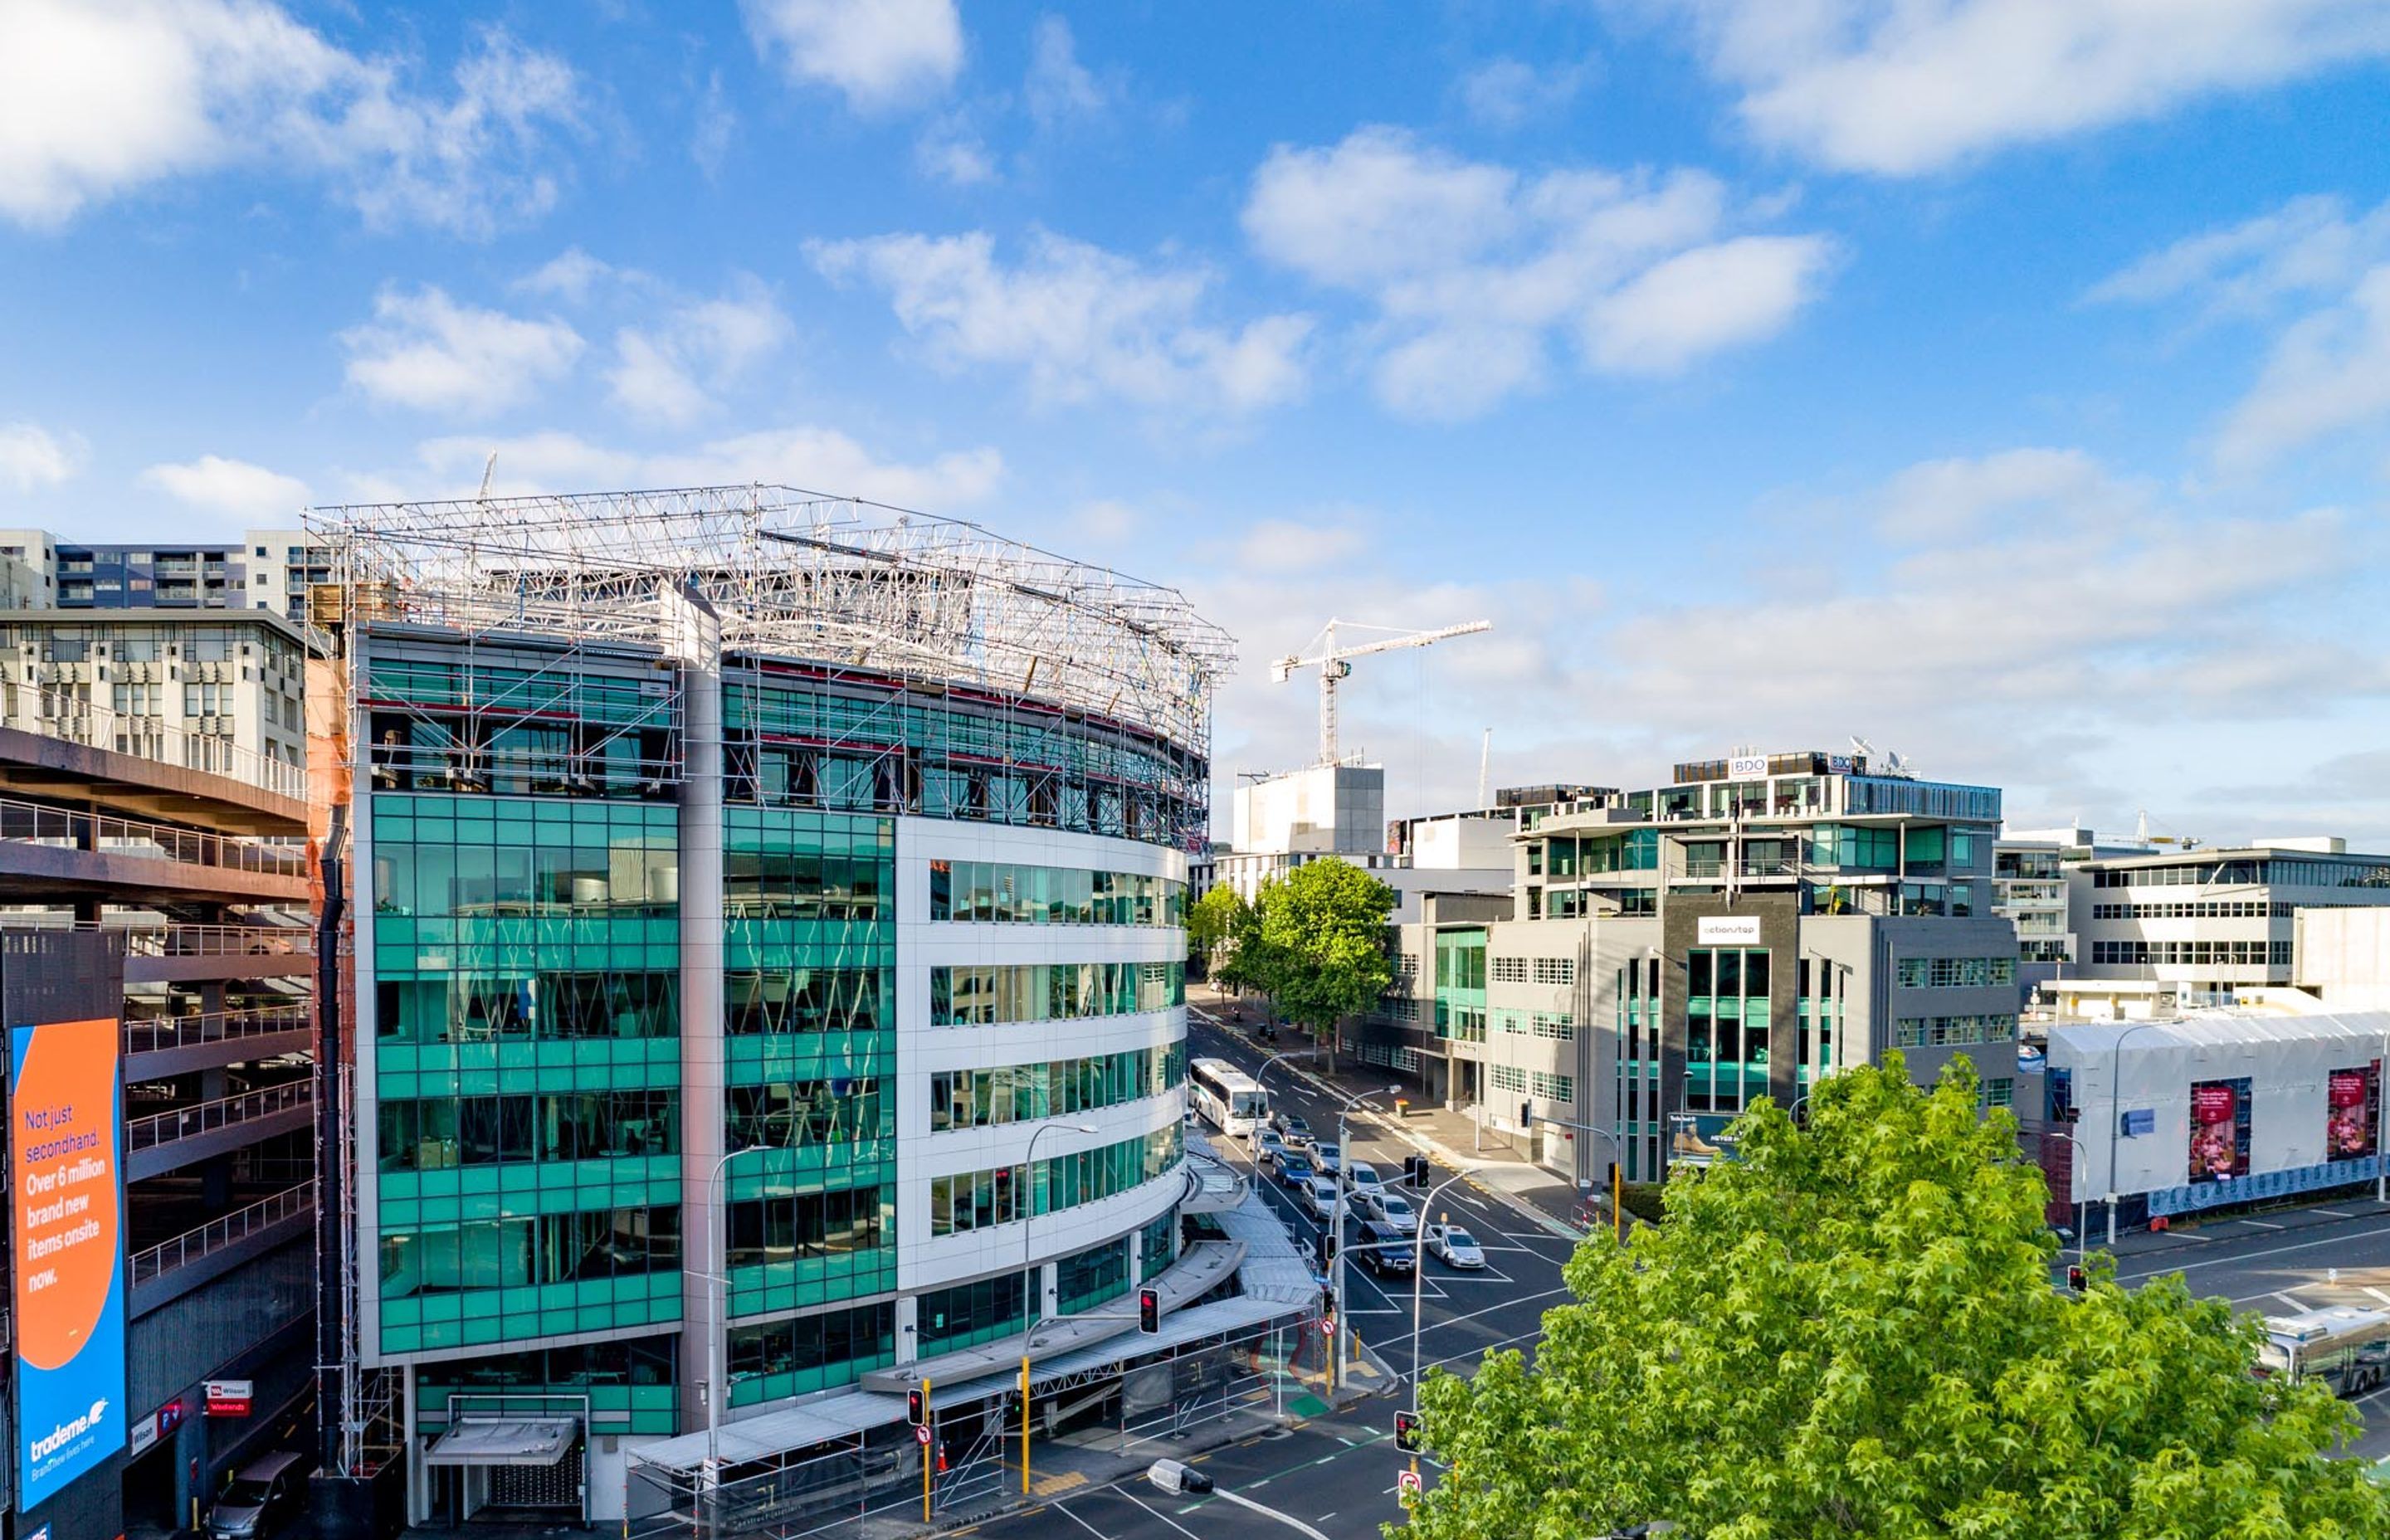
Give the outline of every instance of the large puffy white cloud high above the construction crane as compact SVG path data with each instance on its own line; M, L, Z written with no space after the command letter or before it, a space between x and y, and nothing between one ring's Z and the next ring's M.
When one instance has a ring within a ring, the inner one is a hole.
M1738 234L1697 170L1525 177L1365 127L1279 146L1252 179L1255 251L1379 313L1379 399L1465 418L1549 375L1565 337L1599 373L1678 373L1766 340L1831 265L1826 237Z

